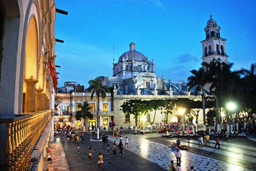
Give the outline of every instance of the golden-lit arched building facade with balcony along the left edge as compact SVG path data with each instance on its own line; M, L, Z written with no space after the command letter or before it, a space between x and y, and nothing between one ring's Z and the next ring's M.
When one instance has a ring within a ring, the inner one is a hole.
M0 167L3 170L27 170L30 157L38 160L32 170L47 170L50 109L54 108L56 86L55 19L53 0L0 1Z

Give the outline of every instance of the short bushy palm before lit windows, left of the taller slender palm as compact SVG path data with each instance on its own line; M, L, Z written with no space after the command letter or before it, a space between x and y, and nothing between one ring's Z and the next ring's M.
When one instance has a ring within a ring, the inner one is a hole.
M87 119L92 119L93 115L90 111L90 106L87 102L84 102L83 105L78 106L79 110L76 112L75 117L77 120L79 120L81 117L83 117L83 125L87 128L88 125L86 125Z

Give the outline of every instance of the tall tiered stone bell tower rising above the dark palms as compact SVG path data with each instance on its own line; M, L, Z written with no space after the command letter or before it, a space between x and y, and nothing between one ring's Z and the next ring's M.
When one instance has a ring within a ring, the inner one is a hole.
M211 17L211 16L210 16ZM207 21L206 39L201 41L203 49L203 63L210 63L214 59L219 59L227 63L226 40L220 36L220 27L212 17Z

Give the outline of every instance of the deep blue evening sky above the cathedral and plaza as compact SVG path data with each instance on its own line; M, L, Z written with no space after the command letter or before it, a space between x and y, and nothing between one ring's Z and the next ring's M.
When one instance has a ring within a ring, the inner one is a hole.
M56 0L56 65L59 87L64 81L88 86L97 76L112 76L114 58L135 49L154 59L157 76L187 81L200 67L204 28L212 15L227 39L233 69L256 63L256 1Z

